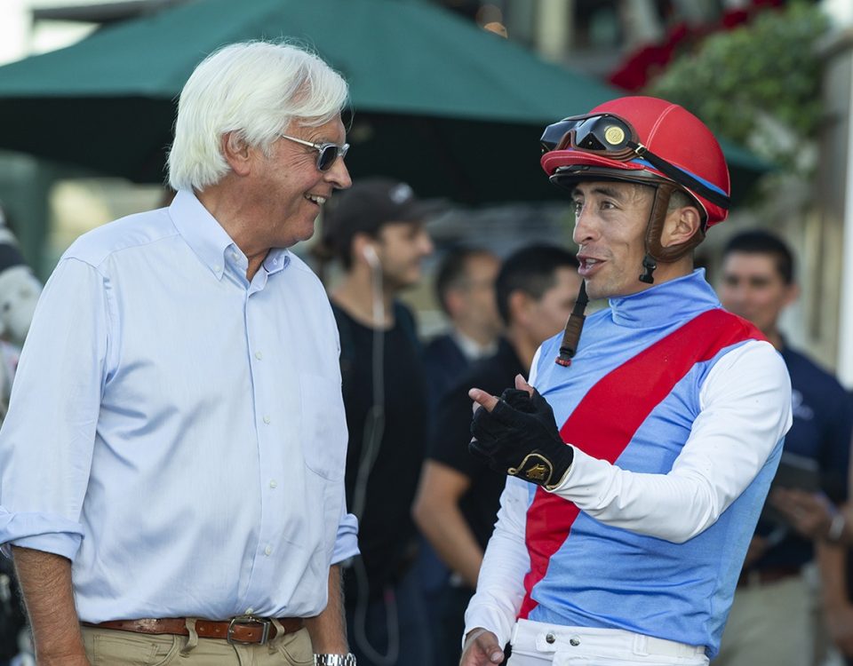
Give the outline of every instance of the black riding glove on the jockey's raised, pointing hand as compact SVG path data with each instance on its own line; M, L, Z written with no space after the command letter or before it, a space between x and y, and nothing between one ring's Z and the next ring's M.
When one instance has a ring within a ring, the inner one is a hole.
M496 472L517 476L554 490L569 472L575 449L566 444L554 411L534 389L533 395L506 389L489 412L478 408L471 423L468 450Z

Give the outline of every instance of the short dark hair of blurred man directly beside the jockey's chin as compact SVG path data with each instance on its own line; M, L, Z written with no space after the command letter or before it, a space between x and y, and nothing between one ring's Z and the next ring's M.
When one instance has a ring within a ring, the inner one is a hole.
M509 324L509 297L521 290L533 298L541 298L556 283L558 268L578 268L578 259L555 245L529 245L515 250L506 258L495 281L498 313Z

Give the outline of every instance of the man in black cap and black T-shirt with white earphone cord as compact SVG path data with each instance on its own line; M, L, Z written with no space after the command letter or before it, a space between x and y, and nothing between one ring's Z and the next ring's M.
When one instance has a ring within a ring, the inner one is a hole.
M332 199L323 243L345 274L331 293L347 411L347 506L359 549L344 572L350 646L360 666L429 663L411 575L411 502L426 444L424 367L411 312L396 299L420 280L433 245L427 207L405 183L361 180Z

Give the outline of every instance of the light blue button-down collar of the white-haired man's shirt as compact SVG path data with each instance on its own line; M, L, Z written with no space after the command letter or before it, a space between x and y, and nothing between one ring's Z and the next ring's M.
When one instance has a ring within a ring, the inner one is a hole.
M216 275L218 280L221 279L227 260L226 251L232 246L237 249L231 236L210 211L204 208L202 202L198 201L195 194L187 190L180 190L175 195L169 206L169 215L181 238L203 264L211 269L211 273ZM290 261L289 250L273 248L264 258L262 267L267 274L274 274L283 270Z

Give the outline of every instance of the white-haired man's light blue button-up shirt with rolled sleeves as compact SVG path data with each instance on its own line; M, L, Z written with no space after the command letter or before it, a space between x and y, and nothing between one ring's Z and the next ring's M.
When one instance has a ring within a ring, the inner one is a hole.
M73 562L80 618L310 616L347 514L339 341L288 250L193 194L84 234L36 309L0 432L0 543Z

